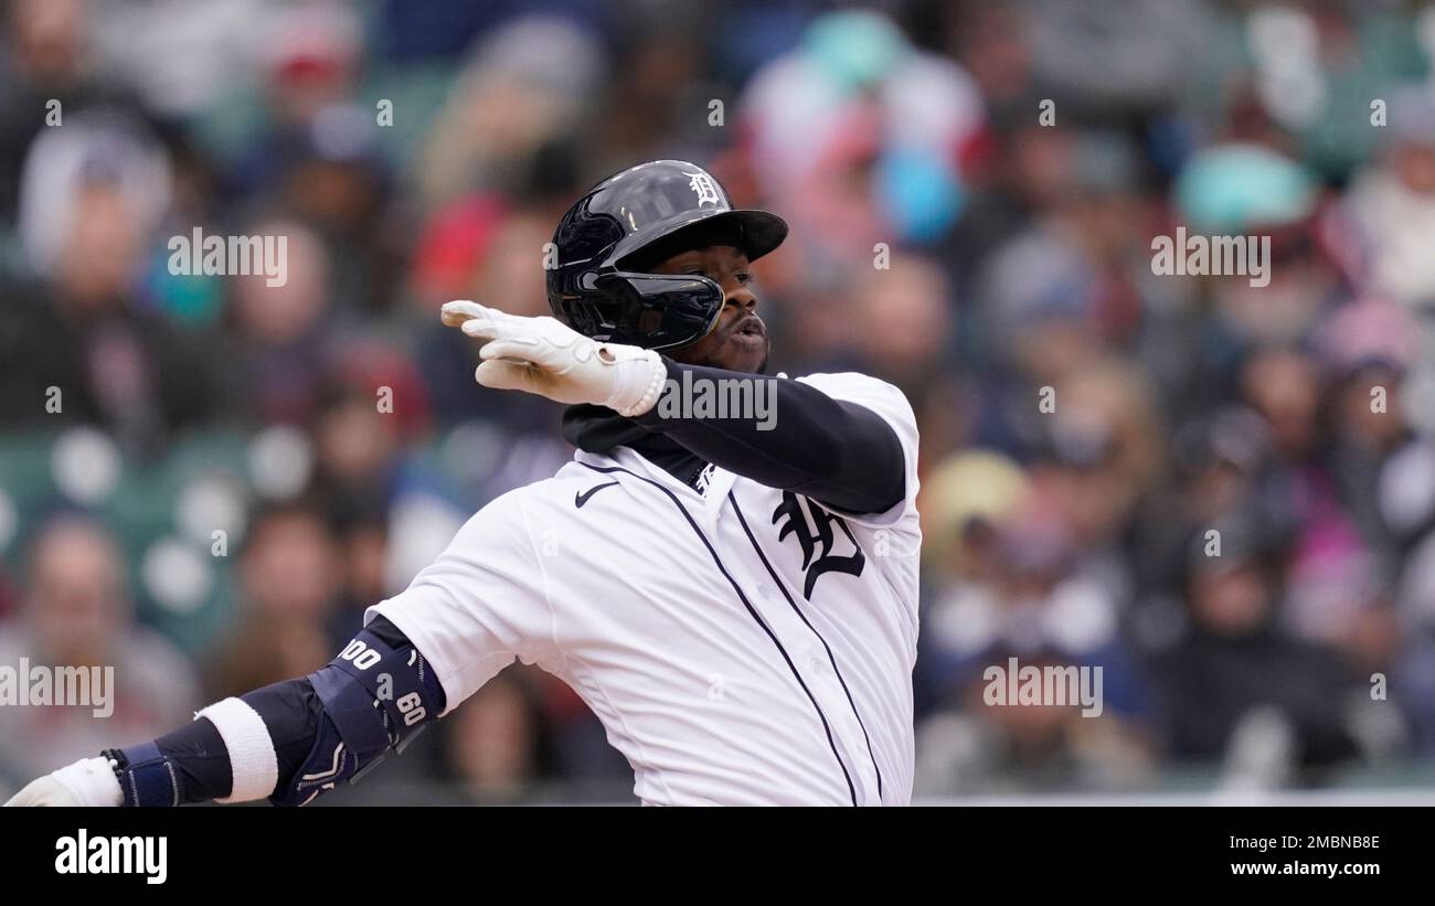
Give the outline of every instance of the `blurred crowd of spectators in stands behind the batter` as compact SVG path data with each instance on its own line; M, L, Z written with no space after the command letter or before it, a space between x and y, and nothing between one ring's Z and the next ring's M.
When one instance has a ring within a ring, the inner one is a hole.
M917 410L918 796L1428 764L1432 63L1395 0L9 0L0 664L118 690L0 707L0 787L316 669L565 462L438 305L547 313L558 215L656 158L791 222L775 370ZM1155 274L1178 226L1269 285ZM172 274L195 228L287 281ZM1099 665L1102 715L987 707L1009 657ZM366 784L631 796L521 667Z

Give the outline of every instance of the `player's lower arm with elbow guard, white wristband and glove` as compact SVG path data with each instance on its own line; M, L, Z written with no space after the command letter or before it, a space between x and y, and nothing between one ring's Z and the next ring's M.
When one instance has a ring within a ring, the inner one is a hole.
M324 668L225 698L151 743L62 767L6 806L303 806L403 751L443 708L423 655L377 616Z

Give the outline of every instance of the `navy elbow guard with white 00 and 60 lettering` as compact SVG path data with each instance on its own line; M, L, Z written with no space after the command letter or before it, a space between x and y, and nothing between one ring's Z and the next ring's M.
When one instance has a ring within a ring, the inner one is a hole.
M445 702L418 648L393 648L369 629L309 682L324 714L309 757L270 797L276 806L304 806L340 781L359 780L390 751L402 753Z

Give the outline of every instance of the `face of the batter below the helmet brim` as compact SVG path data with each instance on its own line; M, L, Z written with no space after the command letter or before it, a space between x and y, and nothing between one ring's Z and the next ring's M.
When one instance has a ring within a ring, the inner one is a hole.
M695 248L653 268L656 274L702 274L722 287L725 300L718 325L697 343L672 357L690 366L709 366L761 374L768 368L771 340L768 327L758 317L758 297L752 292L748 255L732 245Z

